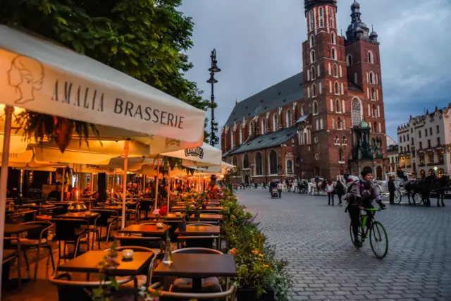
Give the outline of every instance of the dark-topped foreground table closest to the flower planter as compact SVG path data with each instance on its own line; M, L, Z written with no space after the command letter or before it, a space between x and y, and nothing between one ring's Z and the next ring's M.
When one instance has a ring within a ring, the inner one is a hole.
M202 278L233 277L237 275L232 254L172 254L172 264L160 264L154 270L156 276L192 278L194 292L202 291Z

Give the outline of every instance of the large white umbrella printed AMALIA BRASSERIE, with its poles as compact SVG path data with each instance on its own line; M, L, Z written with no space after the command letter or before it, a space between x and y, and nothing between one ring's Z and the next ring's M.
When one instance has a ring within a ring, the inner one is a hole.
M13 106L142 133L143 139L159 142L152 143L153 153L202 145L205 111L54 42L6 25L0 25L0 37L0 102L7 104L4 154L9 154ZM126 141L125 159L128 145ZM8 156L3 156L0 257L3 254L7 168ZM125 175L126 171L125 160ZM125 193L123 204L125 208Z

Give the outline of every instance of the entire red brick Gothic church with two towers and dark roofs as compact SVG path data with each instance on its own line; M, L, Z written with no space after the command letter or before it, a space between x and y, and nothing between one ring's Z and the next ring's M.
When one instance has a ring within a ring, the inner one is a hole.
M376 32L351 6L338 35L337 0L304 0L302 72L237 102L221 129L223 159L242 169L235 182L335 178L345 169L388 166L381 61Z

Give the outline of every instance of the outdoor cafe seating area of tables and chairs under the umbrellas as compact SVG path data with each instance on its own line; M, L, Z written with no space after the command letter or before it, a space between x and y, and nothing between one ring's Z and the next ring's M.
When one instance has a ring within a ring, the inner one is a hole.
M168 213L153 207L147 215L140 202L154 199L130 197L124 226L121 203L110 200L86 200L84 209L49 200L14 206L6 213L2 300L92 300L99 264L112 247L114 300L138 300L140 290L161 300L233 297L228 279L237 271L233 254L222 252L221 199L202 206L182 199L173 197Z

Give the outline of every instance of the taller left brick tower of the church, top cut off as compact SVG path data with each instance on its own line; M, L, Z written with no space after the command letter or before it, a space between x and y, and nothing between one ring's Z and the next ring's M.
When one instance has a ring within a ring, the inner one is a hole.
M304 112L301 170L333 177L352 155L345 39L337 31L336 0L304 0L307 41L302 45ZM338 141L342 147L337 146ZM345 142L345 143L343 143Z

